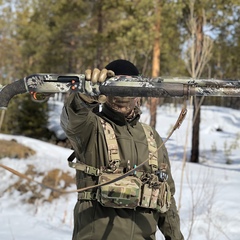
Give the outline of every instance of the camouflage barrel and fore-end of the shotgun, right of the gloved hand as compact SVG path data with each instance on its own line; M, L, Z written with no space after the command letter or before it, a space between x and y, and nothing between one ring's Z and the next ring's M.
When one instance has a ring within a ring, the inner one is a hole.
M240 97L239 80L116 76L103 83L105 95L142 97Z

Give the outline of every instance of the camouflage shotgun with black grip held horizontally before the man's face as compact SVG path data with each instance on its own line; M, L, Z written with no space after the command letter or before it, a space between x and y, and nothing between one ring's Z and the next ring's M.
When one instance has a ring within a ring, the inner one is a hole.
M129 97L240 97L240 80L193 79L179 77L147 78L143 76L114 76L92 86L93 96ZM84 74L39 73L27 76L0 89L0 109L6 109L17 94L30 93L33 100L43 94L43 100L54 93L86 93Z

